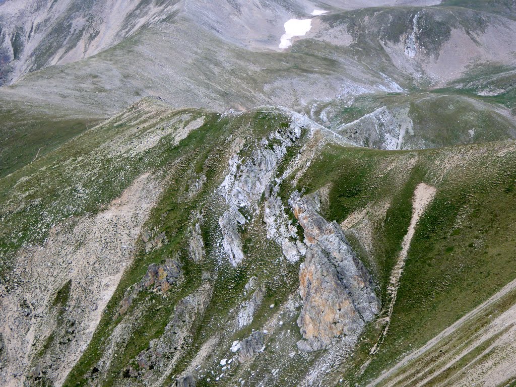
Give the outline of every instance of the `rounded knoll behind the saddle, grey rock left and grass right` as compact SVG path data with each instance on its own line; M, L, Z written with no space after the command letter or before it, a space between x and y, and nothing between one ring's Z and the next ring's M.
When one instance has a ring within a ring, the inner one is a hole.
M352 106L321 103L311 116L352 142L376 149L440 148L516 138L507 107L444 91L366 94L354 99Z

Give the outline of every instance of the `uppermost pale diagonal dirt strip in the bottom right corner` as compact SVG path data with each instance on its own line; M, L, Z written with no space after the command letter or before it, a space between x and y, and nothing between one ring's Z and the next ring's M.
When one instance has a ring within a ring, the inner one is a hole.
M501 291L493 295L491 298L489 298L487 301L483 302L482 304L478 305L474 310L464 315L462 318L457 320L454 324L450 325L448 328L446 328L444 331L439 333L436 337L432 338L430 341L428 341L423 347L420 349L415 350L414 352L408 354L404 359L402 359L398 364L396 364L393 368L389 369L382 375L380 375L377 379L367 384L367 387L373 387L384 381L385 379L391 377L394 375L399 369L406 366L409 362L412 360L420 357L422 354L424 354L426 351L428 351L430 348L432 348L434 345L439 343L443 338L453 334L458 328L460 328L464 322L467 320L475 317L478 313L480 313L483 309L488 308L491 304L496 302L497 300L501 299L505 295L507 295L510 291L513 289L516 289L516 279L512 282L508 283L504 288L502 288ZM515 316L516 317L516 316Z

